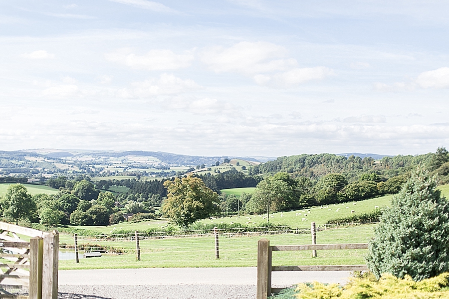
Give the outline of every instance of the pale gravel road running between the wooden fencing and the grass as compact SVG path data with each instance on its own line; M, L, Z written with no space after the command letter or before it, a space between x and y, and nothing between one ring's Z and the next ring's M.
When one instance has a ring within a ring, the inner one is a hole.
M60 299L255 299L257 268L147 268L59 271ZM274 272L273 287L344 284L349 272Z

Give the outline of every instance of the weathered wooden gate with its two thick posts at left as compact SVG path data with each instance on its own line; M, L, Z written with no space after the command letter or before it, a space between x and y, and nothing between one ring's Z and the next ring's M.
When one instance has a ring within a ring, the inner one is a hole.
M4 222L0 230L0 298L57 299L58 232Z

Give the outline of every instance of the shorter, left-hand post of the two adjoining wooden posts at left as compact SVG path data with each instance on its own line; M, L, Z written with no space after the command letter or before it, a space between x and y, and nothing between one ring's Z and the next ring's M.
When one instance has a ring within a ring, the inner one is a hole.
M29 239L29 299L42 298L42 251L42 238Z

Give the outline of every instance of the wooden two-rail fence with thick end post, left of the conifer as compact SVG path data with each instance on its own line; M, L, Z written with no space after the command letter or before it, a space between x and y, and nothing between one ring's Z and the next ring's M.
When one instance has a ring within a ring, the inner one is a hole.
M325 245L284 245L270 246L270 241L260 239L257 243L257 299L267 299L271 293L282 289L271 288L271 272L273 271L365 271L366 265L351 266L271 266L273 251L296 250L340 250L368 249L368 244L325 244Z

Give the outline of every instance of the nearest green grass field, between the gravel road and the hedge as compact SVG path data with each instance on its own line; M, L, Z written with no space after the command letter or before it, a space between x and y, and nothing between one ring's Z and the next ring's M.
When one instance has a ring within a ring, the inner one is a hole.
M373 225L332 229L317 233L317 242L364 243L373 235ZM310 244L308 234L276 234L231 237L220 235L220 259L215 258L214 237L212 235L191 238L165 238L141 240L141 261L135 259L135 242L79 240L80 246L95 243L106 248L125 250L122 255L105 255L101 258L59 261L59 269L112 269L148 267L255 267L257 265L257 240L270 240L270 245ZM73 243L73 238L60 236L61 243ZM317 258L311 258L309 251L275 252L274 266L294 265L357 265L363 264L366 250L318 251Z

